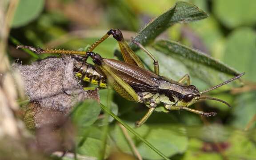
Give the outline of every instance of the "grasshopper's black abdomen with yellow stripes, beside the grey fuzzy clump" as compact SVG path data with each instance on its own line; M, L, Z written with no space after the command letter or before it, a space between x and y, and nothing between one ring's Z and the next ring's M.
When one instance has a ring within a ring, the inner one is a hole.
M94 66L88 63L75 64L75 75L86 82L100 86L101 88L107 88L107 80L104 76L101 76L96 72Z

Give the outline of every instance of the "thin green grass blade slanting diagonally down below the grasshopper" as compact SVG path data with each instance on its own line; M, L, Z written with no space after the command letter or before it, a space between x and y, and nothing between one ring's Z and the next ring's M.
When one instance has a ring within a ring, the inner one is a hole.
M159 156L163 157L164 160L170 160L168 157L164 156L162 152L157 150L152 144L150 144L147 140L145 140L143 137L141 137L137 132L135 132L130 126L125 124L118 116L116 116L113 112L111 112L107 107L105 107L103 104L100 104L100 108L102 108L105 112L110 114L115 120L117 120L120 124L122 124L128 131L132 132L137 138L139 138L141 141L143 141L148 147L150 147L153 151L155 151Z

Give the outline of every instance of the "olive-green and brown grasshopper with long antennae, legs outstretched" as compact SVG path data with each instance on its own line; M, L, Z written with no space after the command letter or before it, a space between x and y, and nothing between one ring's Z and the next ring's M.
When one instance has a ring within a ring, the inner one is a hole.
M99 54L92 52L97 45L103 42L108 36L112 35L119 44L123 61L106 59L101 57ZM132 100L138 103L145 104L149 110L146 115L136 123L137 127L140 127L148 119L148 117L156 109L160 103L164 104L164 108L167 111L172 110L186 110L189 112L197 113L203 116L215 116L216 112L202 112L196 109L188 108L200 99L217 100L230 107L230 105L224 100L220 100L213 97L202 96L203 93L212 91L213 89L219 88L225 84L232 82L243 76L245 73L227 80L221 84L218 84L205 91L199 91L194 85L190 84L190 77L188 74L183 76L180 80L174 81L159 75L159 64L158 61L148 52L140 43L137 44L144 52L148 54L154 61L154 72L148 71L144 68L144 65L140 58L132 51L132 49L125 42L124 37L119 29L110 29L102 38L94 42L87 50L82 51L68 51L68 50L44 50L41 48L33 48L30 46L18 46L17 48L28 48L33 52L40 53L60 53L60 54L75 54L83 55L84 62L90 56L93 60L96 72L103 78L107 78L108 83L114 88L120 96L127 100ZM77 67L77 70L81 71ZM92 69L93 70L93 69ZM91 73L94 71L91 71ZM78 72L77 76L83 77L88 72ZM96 74L96 73L95 73ZM103 78L99 77L95 80L97 84L99 80ZM84 76L84 79L88 79L89 76ZM89 78L92 81L92 78ZM88 81L88 80L87 80ZM96 83L94 83L96 84ZM104 86L105 87L105 86Z

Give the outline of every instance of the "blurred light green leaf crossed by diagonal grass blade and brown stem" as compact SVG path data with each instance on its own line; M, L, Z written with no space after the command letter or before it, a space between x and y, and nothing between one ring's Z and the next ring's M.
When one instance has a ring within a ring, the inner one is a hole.
M135 131L148 140L148 142L150 142L154 147L158 148L165 156L170 157L177 153L183 153L187 149L188 138L173 132L172 129L166 126L157 127L154 125L148 126L144 124L140 128L136 128ZM124 134L118 126L114 129L112 135L115 138L117 146L123 152L132 154L132 151L125 140ZM130 134L130 136L136 143L136 148L144 159L161 160L161 157L158 154L151 152L151 148L144 143L141 143L136 136L132 134Z

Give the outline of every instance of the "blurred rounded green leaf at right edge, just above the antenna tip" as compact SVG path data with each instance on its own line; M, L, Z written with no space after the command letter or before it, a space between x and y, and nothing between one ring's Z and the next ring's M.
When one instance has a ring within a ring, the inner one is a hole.
M223 61L241 72L244 78L256 81L256 32L251 28L239 28L229 36Z

